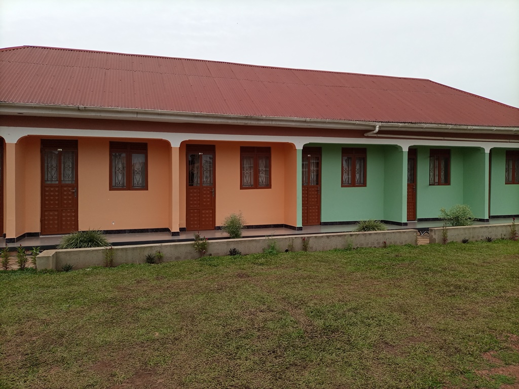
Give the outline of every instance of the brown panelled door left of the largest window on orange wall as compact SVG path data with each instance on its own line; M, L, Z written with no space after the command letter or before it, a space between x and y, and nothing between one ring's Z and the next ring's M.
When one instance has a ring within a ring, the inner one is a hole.
M77 141L42 140L42 234L78 229Z

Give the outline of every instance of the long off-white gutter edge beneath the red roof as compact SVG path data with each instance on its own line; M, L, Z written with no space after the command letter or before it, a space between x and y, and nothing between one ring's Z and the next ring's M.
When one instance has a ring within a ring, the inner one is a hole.
M359 120L327 120L291 117L242 116L176 112L152 109L105 108L68 105L0 103L0 115L26 115L66 118L141 120L170 123L232 124L296 128L348 129L371 131L447 132L458 134L518 134L518 127L468 126L461 124L399 123Z

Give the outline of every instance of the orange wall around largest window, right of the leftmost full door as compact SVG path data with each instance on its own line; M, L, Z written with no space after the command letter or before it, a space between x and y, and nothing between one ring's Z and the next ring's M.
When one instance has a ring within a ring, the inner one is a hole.
M109 190L110 140L78 140L79 229L169 227L171 147L165 141L147 143L148 190Z

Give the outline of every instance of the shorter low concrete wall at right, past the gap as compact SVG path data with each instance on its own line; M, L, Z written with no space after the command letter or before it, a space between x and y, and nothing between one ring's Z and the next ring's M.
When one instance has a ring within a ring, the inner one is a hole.
M487 237L492 239L510 238L510 224L446 227L446 229L448 242L461 242L463 239L471 242L482 241ZM442 230L442 227L429 228L429 242L442 243Z

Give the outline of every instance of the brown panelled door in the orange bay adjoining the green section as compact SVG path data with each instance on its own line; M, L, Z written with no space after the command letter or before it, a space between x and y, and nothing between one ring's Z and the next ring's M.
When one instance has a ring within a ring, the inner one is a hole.
M186 230L214 230L215 148L187 145Z

